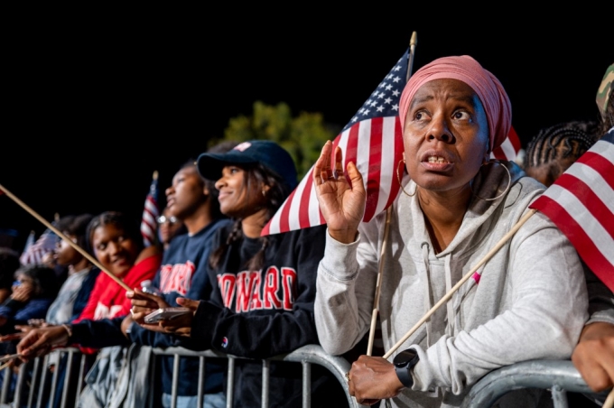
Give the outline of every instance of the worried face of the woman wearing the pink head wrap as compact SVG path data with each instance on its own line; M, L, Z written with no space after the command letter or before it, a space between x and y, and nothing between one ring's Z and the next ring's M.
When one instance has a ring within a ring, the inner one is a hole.
M405 166L421 188L463 190L488 160L488 119L479 97L458 79L419 88L405 116Z

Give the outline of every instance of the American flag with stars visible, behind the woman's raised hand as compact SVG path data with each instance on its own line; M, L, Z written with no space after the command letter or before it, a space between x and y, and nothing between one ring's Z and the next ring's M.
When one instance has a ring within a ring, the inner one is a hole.
M364 222L390 207L400 190L395 169L403 159L398 110L407 82L408 57L409 48L332 143L333 152L337 146L343 151L344 169L348 162L355 162L363 176L367 190ZM511 129L492 155L511 161L516 158L520 146L516 132ZM261 236L324 224L312 173L313 166L265 225Z

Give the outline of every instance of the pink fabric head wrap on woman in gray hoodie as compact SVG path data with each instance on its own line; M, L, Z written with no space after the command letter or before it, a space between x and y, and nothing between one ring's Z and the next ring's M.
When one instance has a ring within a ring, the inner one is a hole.
M512 106L509 97L501 82L469 55L443 57L415 71L401 94L399 113L403 128L415 92L424 83L433 79L459 79L473 88L488 118L489 151L492 152L503 143L512 125Z

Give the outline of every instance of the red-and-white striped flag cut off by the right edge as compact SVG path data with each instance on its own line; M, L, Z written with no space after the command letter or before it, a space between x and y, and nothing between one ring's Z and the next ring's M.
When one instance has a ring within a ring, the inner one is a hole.
M529 207L550 218L614 292L614 127Z

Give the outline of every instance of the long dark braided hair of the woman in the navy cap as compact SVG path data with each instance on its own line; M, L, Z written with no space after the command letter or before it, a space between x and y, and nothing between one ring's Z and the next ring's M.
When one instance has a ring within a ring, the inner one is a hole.
M243 185L247 189L247 194L260 194L260 190L253 186L261 186L265 184L270 187L270 189L266 191L265 222L273 218L277 209L279 209L284 203L284 199L286 199L292 192L290 186L284 182L282 177L274 172L271 172L261 163L252 165L241 164L238 167L241 167L245 171ZM247 199L249 199L249 197ZM211 253L211 256L209 257L209 264L212 268L217 269L223 255L228 250L228 246L243 237L243 229L241 228L242 220L243 218L237 218L235 220L226 242ZM268 236L261 236L258 239L262 242L262 246L256 255L249 259L246 264L247 268L249 268L251 271L259 270L265 263L265 251L269 243L269 238Z

